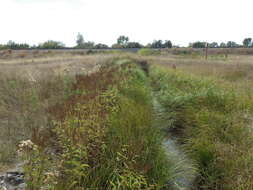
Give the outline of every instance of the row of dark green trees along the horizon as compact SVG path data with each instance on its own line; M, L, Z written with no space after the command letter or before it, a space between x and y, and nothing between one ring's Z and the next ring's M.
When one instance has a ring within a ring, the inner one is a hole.
M76 49L121 49L121 48L172 48L179 47L173 46L170 40L154 40L152 43L147 45L140 44L139 42L130 41L127 36L119 36L115 44L109 47L106 44L94 43L92 41L86 41L82 34L78 33L76 38L76 45L74 47L66 47L64 43L54 40L48 40L46 42L40 43L39 45L30 46L27 43L16 43L14 41L8 41L7 44L0 44L0 49L67 49L67 48L76 48ZM253 47L252 38L245 38L242 42L242 45L237 44L234 41L222 42L218 44L217 42L193 42L190 43L188 47L191 48L239 48L239 47Z

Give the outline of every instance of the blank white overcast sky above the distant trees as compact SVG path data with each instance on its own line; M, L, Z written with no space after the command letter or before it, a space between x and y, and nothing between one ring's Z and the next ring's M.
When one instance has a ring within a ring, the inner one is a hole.
M253 38L252 0L0 0L0 44L116 43L120 35L147 44L171 40L242 43Z

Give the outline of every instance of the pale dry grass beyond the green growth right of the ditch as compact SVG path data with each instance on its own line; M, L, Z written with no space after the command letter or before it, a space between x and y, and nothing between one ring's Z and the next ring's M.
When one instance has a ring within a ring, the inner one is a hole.
M214 78L224 87L233 87L238 92L253 95L253 56L233 55L225 60L204 60L167 55L150 57L149 61L173 69L176 66L177 70L188 74Z

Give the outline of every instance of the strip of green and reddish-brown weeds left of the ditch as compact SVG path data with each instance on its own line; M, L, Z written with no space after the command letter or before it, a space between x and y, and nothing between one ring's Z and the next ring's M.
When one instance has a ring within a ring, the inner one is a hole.
M43 189L59 190L165 188L170 173L159 129L152 127L145 73L129 60L114 60L76 76L71 92L48 110L47 143L34 138L43 157L30 159L33 171L40 171L30 181L45 178Z

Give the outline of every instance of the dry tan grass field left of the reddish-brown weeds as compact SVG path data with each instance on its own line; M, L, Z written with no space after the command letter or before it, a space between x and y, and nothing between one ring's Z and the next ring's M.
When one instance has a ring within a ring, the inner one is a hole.
M46 110L66 97L74 76L94 72L113 57L0 59L0 171L17 161L20 140L48 126Z

